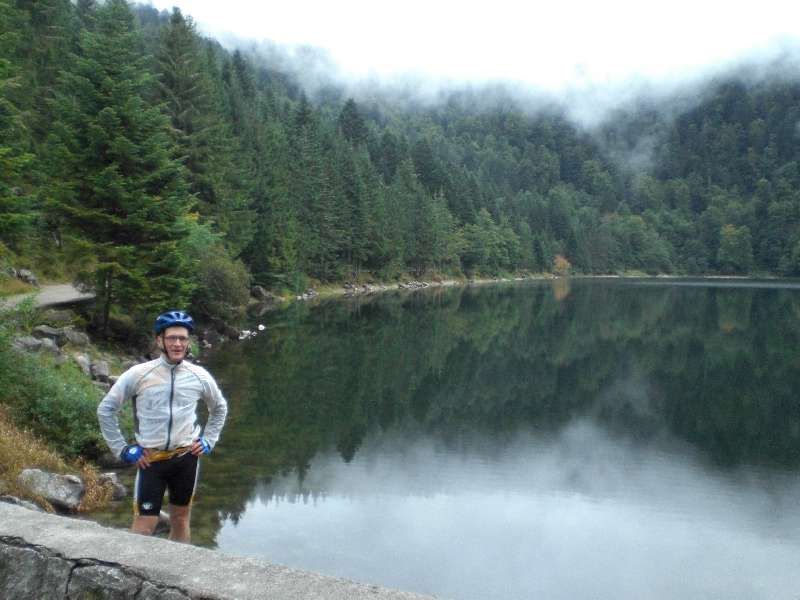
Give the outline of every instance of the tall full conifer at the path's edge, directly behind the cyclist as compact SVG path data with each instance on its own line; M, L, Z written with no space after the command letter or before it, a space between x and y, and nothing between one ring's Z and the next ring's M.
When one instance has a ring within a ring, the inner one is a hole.
M144 99L152 77L124 0L97 10L79 50L57 97L50 157L62 183L52 209L91 257L83 280L107 332L112 307L142 318L188 300L178 245L189 194L167 119Z

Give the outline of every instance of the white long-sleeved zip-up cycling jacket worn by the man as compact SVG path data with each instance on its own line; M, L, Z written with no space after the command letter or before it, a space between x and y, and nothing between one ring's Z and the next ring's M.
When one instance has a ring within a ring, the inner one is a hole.
M201 399L208 406L205 428L197 419ZM213 448L228 414L228 403L208 371L185 360L173 364L162 355L125 371L97 407L100 431L115 456L128 443L118 417L126 400L133 402L136 443L144 448L173 450L200 435Z

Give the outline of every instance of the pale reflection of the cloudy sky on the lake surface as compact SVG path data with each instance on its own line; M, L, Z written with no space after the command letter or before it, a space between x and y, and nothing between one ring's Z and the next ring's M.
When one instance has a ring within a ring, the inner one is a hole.
M796 475L657 436L369 437L261 486L219 548L444 598L794 600Z

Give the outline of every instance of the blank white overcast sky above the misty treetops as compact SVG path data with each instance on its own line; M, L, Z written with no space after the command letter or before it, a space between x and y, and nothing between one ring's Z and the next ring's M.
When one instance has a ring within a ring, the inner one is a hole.
M146 1L146 0L145 0ZM798 0L153 0L201 32L330 52L348 75L558 91L672 82L800 40Z

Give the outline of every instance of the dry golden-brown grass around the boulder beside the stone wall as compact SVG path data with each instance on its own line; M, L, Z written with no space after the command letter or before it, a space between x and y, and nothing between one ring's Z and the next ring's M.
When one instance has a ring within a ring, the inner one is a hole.
M86 486L78 512L94 510L111 500L111 484L100 483L97 467L82 460L64 460L33 432L17 427L0 407L0 479L3 480L5 493L30 500L48 512L53 512L53 507L47 500L17 482L22 470L30 468L52 473L77 472Z

